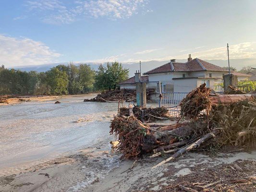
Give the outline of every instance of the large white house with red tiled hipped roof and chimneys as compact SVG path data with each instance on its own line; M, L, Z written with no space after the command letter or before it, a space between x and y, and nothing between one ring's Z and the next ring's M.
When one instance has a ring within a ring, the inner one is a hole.
M161 82L161 92L188 93L203 83L216 91L222 91L217 85L223 82L222 76L227 73L227 70L218 65L198 58L192 59L189 55L187 62L171 60L144 74L148 75L149 86L155 87L157 93L159 83L156 82Z

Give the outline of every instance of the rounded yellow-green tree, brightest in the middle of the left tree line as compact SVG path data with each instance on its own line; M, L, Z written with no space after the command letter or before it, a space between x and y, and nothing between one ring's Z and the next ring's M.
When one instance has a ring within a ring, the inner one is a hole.
M47 85L51 87L52 95L67 95L68 94L68 75L66 72L60 71L53 67L46 72Z

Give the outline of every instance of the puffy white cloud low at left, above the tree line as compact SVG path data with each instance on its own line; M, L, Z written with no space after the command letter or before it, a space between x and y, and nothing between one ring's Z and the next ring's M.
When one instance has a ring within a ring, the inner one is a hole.
M42 42L0 35L0 64L7 67L56 62L60 56Z

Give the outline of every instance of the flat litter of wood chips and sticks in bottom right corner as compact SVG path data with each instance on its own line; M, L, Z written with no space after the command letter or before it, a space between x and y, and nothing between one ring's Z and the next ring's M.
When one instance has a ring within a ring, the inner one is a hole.
M194 174L178 177L161 192L254 192L256 185L256 162L236 160L230 164L220 164L204 168L196 165ZM172 170L164 174L171 175Z

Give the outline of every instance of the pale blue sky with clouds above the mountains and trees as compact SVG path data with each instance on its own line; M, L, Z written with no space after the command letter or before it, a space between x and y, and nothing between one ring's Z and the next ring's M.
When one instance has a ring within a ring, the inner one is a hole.
M0 64L256 58L256 0L0 0Z

